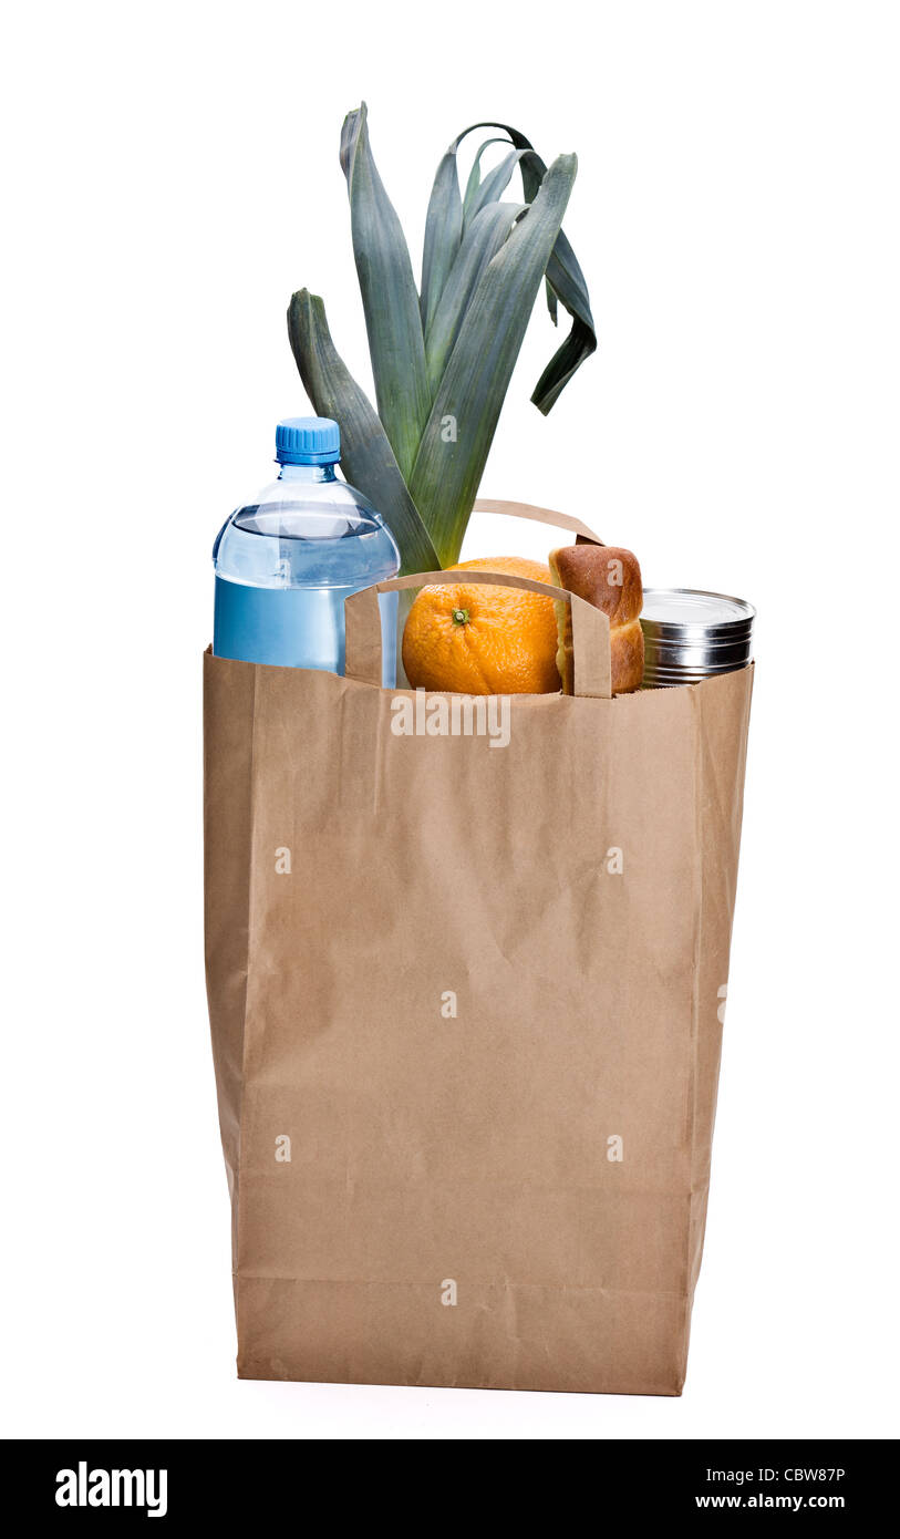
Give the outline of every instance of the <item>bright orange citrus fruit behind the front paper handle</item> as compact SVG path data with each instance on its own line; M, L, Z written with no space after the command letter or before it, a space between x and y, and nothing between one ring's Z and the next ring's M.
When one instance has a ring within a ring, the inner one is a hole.
M552 583L549 566L520 556L458 562ZM560 688L552 599L488 583L422 588L403 633L403 666L414 689L460 694L548 694Z

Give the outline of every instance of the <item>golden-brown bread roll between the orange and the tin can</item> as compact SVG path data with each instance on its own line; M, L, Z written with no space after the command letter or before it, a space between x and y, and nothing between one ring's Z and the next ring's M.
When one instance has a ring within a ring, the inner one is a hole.
M643 588L637 559L618 545L563 545L558 551L551 551L549 566L558 588L568 588L609 616L612 694L631 694L632 689L640 689ZM572 609L562 600L557 603L557 668L563 680L563 694L574 694Z

